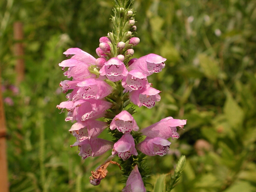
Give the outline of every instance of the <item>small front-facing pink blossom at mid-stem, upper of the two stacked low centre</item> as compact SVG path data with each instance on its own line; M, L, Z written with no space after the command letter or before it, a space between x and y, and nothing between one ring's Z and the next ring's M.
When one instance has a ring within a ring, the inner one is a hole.
M122 111L112 120L110 127L111 130L117 129L123 133L129 133L132 130L138 131L139 127L132 115L128 111Z

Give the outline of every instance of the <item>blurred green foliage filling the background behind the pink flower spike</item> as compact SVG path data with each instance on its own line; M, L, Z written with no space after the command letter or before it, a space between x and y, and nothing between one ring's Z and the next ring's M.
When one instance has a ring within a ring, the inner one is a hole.
M111 0L0 1L0 64L8 127L11 192L121 191L121 172L111 165L99 186L90 172L110 155L81 160L69 148L71 123L55 108L64 101L62 52L79 47L93 56L99 38L112 31ZM156 53L166 67L148 78L161 90L152 109L138 108L141 128L164 117L187 119L169 154L149 157L154 176L187 163L174 192L256 191L256 1L135 0L135 57ZM12 25L24 25L26 76L15 83ZM107 132L102 138L110 139ZM168 178L169 180L169 178ZM153 187L147 185L147 190Z

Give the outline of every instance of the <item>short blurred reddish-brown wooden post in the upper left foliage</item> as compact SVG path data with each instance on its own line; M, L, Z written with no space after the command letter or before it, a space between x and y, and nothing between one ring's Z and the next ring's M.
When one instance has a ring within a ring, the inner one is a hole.
M15 66L15 71L17 74L16 77L16 86L19 86L20 82L24 80L24 51L23 51L23 25L20 21L16 21L13 24L13 35L14 40L16 41L14 45L14 54L17 57L17 63Z

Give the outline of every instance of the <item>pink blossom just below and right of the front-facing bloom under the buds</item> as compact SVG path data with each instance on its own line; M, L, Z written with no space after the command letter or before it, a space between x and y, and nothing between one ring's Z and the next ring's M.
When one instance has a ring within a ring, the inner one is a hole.
M147 76L139 70L132 70L122 80L122 86L129 90L139 90L142 88L149 88Z

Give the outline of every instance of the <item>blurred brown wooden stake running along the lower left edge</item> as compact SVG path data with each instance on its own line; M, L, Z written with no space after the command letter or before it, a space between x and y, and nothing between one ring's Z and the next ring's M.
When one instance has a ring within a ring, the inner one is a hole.
M6 126L1 87L2 85L0 76L0 191L9 192L8 167L6 156Z

